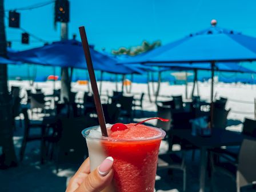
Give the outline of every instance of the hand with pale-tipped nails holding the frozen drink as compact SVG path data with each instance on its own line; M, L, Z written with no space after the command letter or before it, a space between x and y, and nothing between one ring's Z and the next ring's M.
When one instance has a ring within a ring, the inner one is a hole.
M113 178L113 162L112 157L107 157L90 173L90 161L87 158L70 179L66 192L98 192L105 189Z

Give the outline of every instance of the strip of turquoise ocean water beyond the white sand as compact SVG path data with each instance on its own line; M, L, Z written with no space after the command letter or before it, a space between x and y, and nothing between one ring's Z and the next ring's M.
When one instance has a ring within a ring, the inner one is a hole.
M185 83L185 81L179 81L175 79L171 73L174 71L165 71L162 73L161 80L162 82L170 82L170 84L182 84ZM177 71L175 71L177 72ZM190 72L193 74L193 71ZM22 80L33 80L35 82L43 82L47 81L47 77L49 75L58 75L60 79L61 75L61 69L59 67L50 67L50 66L40 66L40 65L28 65L28 64L21 64L21 65L8 65L8 77L9 79L22 79ZM223 72L215 72L215 75L218 78L218 81L221 82L243 82L243 83L251 83L255 84L256 81L254 79L254 74L241 74L241 73L223 73ZM95 72L95 76L97 80L101 80L101 73L99 71ZM210 71L198 71L198 81L207 81L210 79L211 73ZM255 77L256 78L256 77ZM87 73L87 70L80 70L80 69L74 69L73 70L73 76L72 81L78 81L78 80L88 80L89 75ZM111 81L114 82L118 79L118 81L122 81L122 75L115 75L115 74L109 74L104 73L103 74L103 81ZM126 75L126 79L132 80L136 83L147 83L147 73L142 75L133 75L133 79L131 78L131 75ZM190 75L188 77L188 81L192 82L194 79L194 75ZM158 81L158 74L153 73L150 75L150 81Z

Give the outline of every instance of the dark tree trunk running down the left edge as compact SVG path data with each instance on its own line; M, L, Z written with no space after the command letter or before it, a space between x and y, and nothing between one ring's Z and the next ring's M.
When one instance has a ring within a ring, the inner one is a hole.
M0 0L0 56L6 57L7 43L5 35L3 0ZM13 127L11 116L11 97L7 86L7 64L0 65L0 168L14 166L17 163L13 145Z

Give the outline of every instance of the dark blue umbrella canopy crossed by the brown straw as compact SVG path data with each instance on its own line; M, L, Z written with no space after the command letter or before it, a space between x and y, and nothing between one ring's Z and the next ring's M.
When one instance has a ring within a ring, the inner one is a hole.
M137 67L116 65L117 59L94 50L92 46L90 46L90 53L95 70L115 74L143 73L143 70ZM9 53L8 56L15 61L25 63L87 69L82 43L75 39L53 42L50 45L17 53Z

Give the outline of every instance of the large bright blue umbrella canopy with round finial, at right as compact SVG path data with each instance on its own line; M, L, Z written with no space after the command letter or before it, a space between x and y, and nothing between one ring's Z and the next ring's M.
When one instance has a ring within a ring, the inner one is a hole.
M209 29L158 47L122 63L239 62L256 60L256 38L233 30Z

